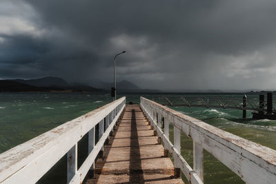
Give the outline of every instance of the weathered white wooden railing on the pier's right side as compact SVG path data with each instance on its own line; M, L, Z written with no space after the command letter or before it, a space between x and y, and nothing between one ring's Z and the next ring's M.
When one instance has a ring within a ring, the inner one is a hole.
M180 168L190 183L203 183L206 150L235 172L246 183L276 183L276 151L220 130L141 97L141 109L170 150L175 167ZM164 132L161 118L164 118ZM174 145L169 140L169 124L174 126ZM181 156L180 134L193 139L193 169Z

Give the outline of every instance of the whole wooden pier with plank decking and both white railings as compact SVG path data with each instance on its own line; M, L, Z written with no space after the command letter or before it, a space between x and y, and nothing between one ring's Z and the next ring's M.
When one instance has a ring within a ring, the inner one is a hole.
M77 167L86 134L88 156ZM181 134L193 140L193 168L181 156ZM36 183L66 154L67 183L183 183L181 173L204 183L204 150L246 183L276 183L275 150L144 97L139 105L122 97L0 154L0 183Z

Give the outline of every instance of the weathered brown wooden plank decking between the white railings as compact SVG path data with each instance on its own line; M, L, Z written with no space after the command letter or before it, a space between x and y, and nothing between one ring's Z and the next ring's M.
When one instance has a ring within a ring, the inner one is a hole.
M183 183L174 177L175 167L139 105L126 105L113 134L111 145L104 147L103 159L95 165L95 178L87 184Z

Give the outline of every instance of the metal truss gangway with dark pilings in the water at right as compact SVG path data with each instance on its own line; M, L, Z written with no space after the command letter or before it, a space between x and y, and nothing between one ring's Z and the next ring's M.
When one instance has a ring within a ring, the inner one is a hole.
M273 107L273 94L267 93L267 100L264 94L259 94L259 100L248 99L244 94L242 99L218 98L210 96L181 96L172 98L162 96L155 98L155 101L169 107L204 107L204 108L223 108L236 109L243 111L243 118L246 118L246 111L253 112L253 119L276 119L276 109Z

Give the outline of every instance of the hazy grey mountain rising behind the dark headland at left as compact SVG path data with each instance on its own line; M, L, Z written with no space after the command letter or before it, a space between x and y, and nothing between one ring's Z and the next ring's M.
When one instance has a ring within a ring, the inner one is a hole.
M15 79L12 81L16 81L19 83L25 83L28 85L33 85L33 86L39 86L39 87L59 87L63 88L68 86L68 83L64 81L63 79L59 77L54 77L54 76L46 76L40 79Z

